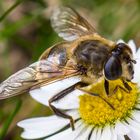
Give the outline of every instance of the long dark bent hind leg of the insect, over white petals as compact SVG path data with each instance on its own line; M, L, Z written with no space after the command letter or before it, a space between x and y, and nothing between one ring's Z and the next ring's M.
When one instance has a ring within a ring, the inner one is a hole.
M56 108L54 105L52 105L53 102L62 99L64 96L68 95L69 93L71 93L72 91L74 91L75 87L78 85L83 85L83 83L78 82L72 86L70 86L69 88L59 92L58 94L54 95L50 100L49 100L49 106L50 108L53 110L53 112L57 115L60 116L62 118L66 118L70 120L70 125L72 130L74 130L74 120L72 118L72 116L64 113L62 110L60 110L59 108Z

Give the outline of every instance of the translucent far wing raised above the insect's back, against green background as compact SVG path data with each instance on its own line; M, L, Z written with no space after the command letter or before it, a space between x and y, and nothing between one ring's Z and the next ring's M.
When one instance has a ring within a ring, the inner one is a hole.
M52 13L51 23L58 35L67 41L96 32L82 16L70 7L56 8Z

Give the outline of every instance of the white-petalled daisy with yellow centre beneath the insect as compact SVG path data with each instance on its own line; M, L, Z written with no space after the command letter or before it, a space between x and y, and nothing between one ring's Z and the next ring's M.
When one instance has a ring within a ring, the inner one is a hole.
M54 103L57 108L63 109L73 117L75 121L74 131L70 127L69 120L52 115L19 122L18 126L24 129L21 137L46 140L125 140L126 138L139 140L140 95L138 87L140 85L140 75L138 71L140 68L140 49L136 50L132 40L128 42L128 45L137 61L133 79L133 82L137 84L129 83L132 88L130 93L119 89L115 94L106 98L115 110L101 98L75 90ZM38 102L48 106L48 100L53 95L79 81L80 79L77 76L67 78L32 90L30 95ZM120 80L113 81L110 84L110 89L113 90L118 84L121 84ZM88 88L90 88L90 91L104 96L103 81Z

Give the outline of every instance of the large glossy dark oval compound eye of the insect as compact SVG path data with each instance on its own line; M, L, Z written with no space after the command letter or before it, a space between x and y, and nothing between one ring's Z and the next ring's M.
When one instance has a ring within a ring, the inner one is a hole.
M108 80L116 80L122 75L122 66L118 56L111 56L104 66L104 74Z

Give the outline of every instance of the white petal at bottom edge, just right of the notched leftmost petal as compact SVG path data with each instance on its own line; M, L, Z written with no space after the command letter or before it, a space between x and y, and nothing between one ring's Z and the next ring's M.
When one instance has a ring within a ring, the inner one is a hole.
M75 130L72 131L71 128L66 129L54 136L51 136L50 138L46 138L45 140L74 140L77 138L79 133L82 131L82 129L85 127L83 122L80 120L75 123Z

